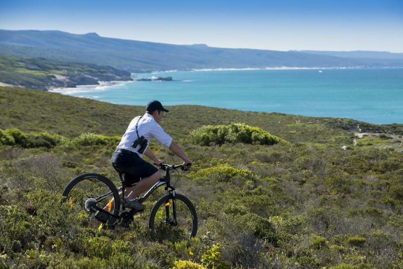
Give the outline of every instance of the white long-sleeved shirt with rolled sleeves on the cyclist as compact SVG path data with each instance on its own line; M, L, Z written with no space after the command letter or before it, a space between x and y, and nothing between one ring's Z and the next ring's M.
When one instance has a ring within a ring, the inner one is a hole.
M136 148L131 147L131 144L133 144L133 142L135 142L138 138L136 133L136 123L139 118L140 116L137 116L131 120L116 149L125 149L136 152L141 158L143 158L143 154L140 154L138 152L138 150L140 149L140 145ZM169 148L171 146L172 138L164 131L164 129L157 123L157 121L155 121L153 116L149 113L144 114L143 117L139 120L137 131L139 132L139 137L143 136L145 139L147 139L147 148L153 138L155 138L166 148Z

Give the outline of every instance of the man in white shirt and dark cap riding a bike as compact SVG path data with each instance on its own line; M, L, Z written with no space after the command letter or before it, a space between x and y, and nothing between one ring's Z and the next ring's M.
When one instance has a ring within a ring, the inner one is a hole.
M168 111L157 100L149 102L146 106L146 113L131 120L116 151L112 155L112 164L126 172L126 197L122 199L122 204L126 208L133 208L138 211L144 210L145 206L139 203L137 196L150 189L162 176L155 166L143 160L143 155L146 155L157 166L163 163L163 161L155 157L148 147L153 138L181 158L184 169L187 170L192 164L192 161L178 144L158 124L164 112ZM139 143L139 139L142 140L141 138L143 138L143 142ZM136 144L135 142L138 143ZM102 212L97 212L95 217L101 222L106 222L109 219L109 216Z

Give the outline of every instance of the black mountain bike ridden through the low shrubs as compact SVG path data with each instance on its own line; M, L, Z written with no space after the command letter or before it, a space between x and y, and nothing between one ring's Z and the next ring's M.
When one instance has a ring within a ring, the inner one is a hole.
M100 211L109 216L104 227L114 228L117 225L127 228L139 213L135 209L120 209L121 193L125 192L124 171L114 166L119 174L121 186L116 188L107 177L96 174L82 174L74 178L63 191L63 201L69 203L70 210L79 218L86 219L93 225L99 224L94 217ZM151 210L149 228L154 240L165 239L178 241L188 240L197 232L197 214L191 201L184 195L175 192L175 184L171 184L171 172L182 169L182 165L160 166L166 171L165 176L154 184L139 202L143 203L156 189L165 185L165 195L159 198ZM177 171L178 172L178 171ZM179 172L178 172L179 178ZM119 193L120 192L120 193ZM114 203L112 201L114 200ZM104 207L107 205L107 210ZM100 225L100 228L103 225Z

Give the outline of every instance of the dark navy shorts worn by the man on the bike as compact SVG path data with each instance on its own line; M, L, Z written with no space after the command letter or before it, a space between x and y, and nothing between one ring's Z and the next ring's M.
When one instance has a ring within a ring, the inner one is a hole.
M158 171L158 168L140 158L137 153L129 150L116 150L111 163L126 172L125 183L134 184L142 178L149 177Z

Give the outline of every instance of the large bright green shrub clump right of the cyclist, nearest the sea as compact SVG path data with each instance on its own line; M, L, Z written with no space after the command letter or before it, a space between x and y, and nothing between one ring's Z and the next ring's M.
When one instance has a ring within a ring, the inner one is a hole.
M222 145L224 143L244 143L273 145L285 142L269 132L245 123L231 123L229 125L204 125L191 132L193 142L203 146L211 143Z

